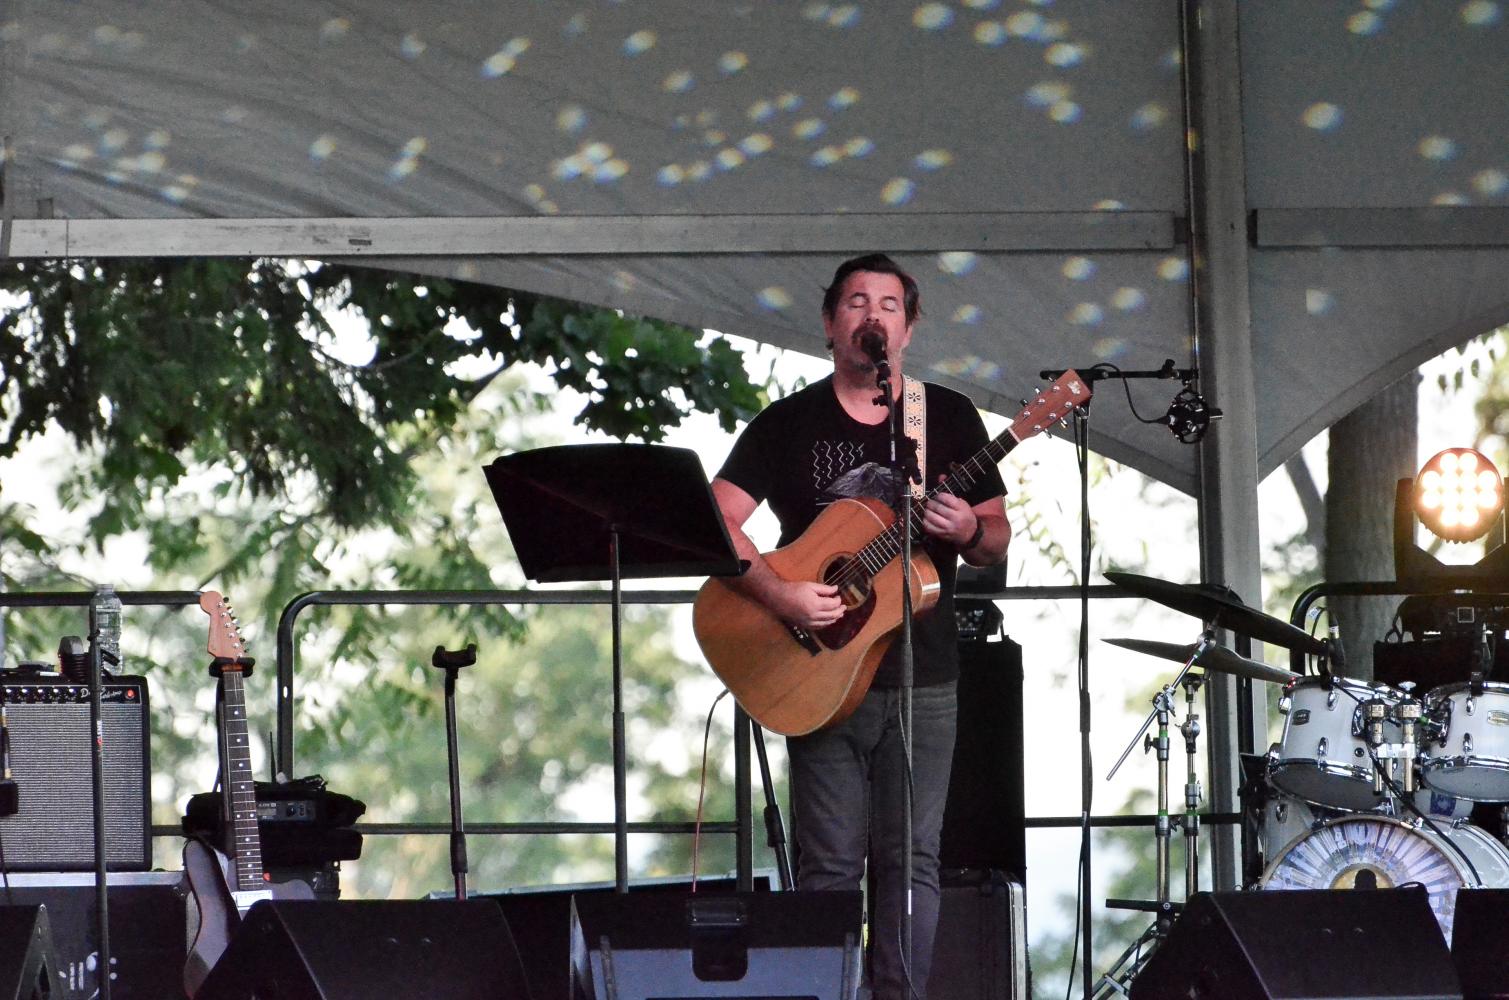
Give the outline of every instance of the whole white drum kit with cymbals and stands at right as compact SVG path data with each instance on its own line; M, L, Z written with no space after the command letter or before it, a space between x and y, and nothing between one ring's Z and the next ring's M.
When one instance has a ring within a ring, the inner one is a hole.
M1189 709L1194 707L1194 686L1200 679L1189 674L1192 667L1283 685L1278 700L1283 735L1255 762L1243 789L1245 811L1255 817L1255 851L1262 855L1260 864L1249 867L1246 888L1348 890L1421 884L1450 943L1459 888L1509 887L1509 848L1485 830L1495 822L1501 825L1509 814L1509 810L1494 808L1494 804L1509 804L1509 683L1485 680L1477 668L1491 661L1491 655L1474 658L1470 680L1438 685L1420 695L1408 682L1387 685L1332 673L1342 670L1334 640L1316 638L1248 608L1228 591L1130 573L1106 576L1123 590L1207 623L1192 646L1106 640L1185 664L1154 695L1148 721L1117 762L1120 768L1139 741L1159 753L1156 913L1163 926L1154 925L1145 940L1162 937L1171 914L1179 910L1168 897L1171 825L1185 827L1186 888L1198 890L1198 825L1192 822L1198 802L1194 778L1198 722L1192 713L1180 727L1191 760L1186 814L1166 819L1168 718L1180 685L1186 689ZM1317 676L1302 676L1246 659L1215 643L1216 627L1314 656L1322 670ZM1153 719L1159 722L1159 738L1144 738ZM1474 808L1476 816L1491 819L1474 825ZM1262 875L1254 879L1259 869ZM1126 982L1129 976L1117 979ZM1108 976L1102 982L1115 985L1111 980Z

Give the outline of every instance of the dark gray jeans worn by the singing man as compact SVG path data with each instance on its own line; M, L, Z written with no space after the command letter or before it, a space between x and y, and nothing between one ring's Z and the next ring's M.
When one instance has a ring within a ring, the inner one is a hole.
M939 837L954 763L957 685L911 692L913 842L911 986L927 995L939 920ZM859 710L831 729L786 741L797 888L860 888L874 869L871 986L877 1000L911 1000L901 961L901 691L871 689ZM874 851L871 851L874 846Z

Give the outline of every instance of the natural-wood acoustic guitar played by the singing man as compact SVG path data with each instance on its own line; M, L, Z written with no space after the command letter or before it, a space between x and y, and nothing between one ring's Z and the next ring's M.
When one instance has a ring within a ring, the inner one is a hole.
M1065 371L1025 403L1005 431L958 465L927 498L964 493L1019 443L1062 421L1089 400L1089 386ZM922 504L911 501L913 537L922 534ZM703 584L693 629L712 671L750 718L776 733L800 736L848 718L901 630L901 525L877 499L839 499L795 541L765 555L785 579L833 584L844 617L809 630L777 618L765 605L720 578ZM920 544L911 549L911 606L931 611L939 573Z

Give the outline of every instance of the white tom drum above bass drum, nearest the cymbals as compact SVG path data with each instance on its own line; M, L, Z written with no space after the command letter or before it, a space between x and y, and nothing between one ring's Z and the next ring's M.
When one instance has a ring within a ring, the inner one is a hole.
M1390 706L1385 742L1397 744L1393 707L1400 695L1388 685L1346 677L1296 680L1280 703L1284 736L1269 751L1268 780L1274 787L1316 805L1364 813L1379 804L1373 795L1373 763L1358 706L1381 698Z

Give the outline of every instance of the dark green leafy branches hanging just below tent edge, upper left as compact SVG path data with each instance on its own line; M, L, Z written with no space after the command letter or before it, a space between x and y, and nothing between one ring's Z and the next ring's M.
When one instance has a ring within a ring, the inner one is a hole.
M412 456L518 362L585 394L582 425L659 440L693 409L724 427L759 389L685 327L486 285L282 259L106 259L0 268L0 456L56 422L98 446L94 538L143 526L192 465L250 498L314 483L337 528L401 523ZM365 324L368 356L340 350Z

